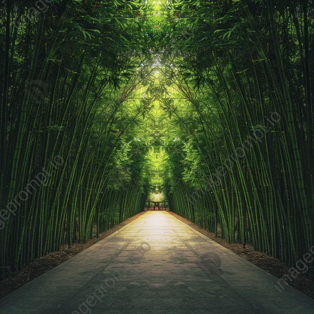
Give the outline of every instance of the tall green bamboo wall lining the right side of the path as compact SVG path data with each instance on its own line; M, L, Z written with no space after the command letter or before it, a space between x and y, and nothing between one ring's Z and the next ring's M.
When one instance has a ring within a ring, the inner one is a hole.
M314 245L313 2L176 5L194 33L172 61L189 103L168 105L181 139L169 151L173 210L293 265Z

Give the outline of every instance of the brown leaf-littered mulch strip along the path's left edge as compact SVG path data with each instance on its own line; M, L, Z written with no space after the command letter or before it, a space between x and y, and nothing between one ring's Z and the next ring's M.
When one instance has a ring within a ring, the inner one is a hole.
M68 249L68 245L63 245L60 251L46 254L45 256L42 256L41 258L25 266L22 270L12 273L8 278L0 281L0 299L10 294L14 290L19 289L24 284L27 284L33 279L39 277L43 273L46 273L46 271L50 270L51 268L56 267L62 262L77 255L79 252L84 251L100 240L110 236L112 233L121 229L145 213L146 212L140 212L137 215L124 220L121 224L115 225L113 228L100 233L98 238L95 237L93 239L89 239L88 243L73 243L71 249Z

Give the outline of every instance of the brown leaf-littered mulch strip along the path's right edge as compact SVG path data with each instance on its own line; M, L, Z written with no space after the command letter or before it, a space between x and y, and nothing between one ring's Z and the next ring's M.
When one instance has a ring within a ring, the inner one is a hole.
M266 253L258 252L253 250L253 246L246 245L244 249L242 244L240 243L226 243L225 239L216 238L215 234L209 232L199 225L193 224L191 221L183 218L173 212L169 212L172 216L176 217L177 219L181 220L188 226L192 227L196 231L200 232L204 236L207 236L209 239L217 242L221 246L224 246L228 250L236 253L237 255L245 258L247 261L250 261L254 265L262 268L263 270L271 273L273 276L277 278L282 278L283 275L288 274L290 267L282 263L280 260L275 259ZM301 291L305 295L309 296L310 298L314 299L314 277L307 274L307 273L300 273L295 279L292 279L290 282L288 280L288 284L293 288Z

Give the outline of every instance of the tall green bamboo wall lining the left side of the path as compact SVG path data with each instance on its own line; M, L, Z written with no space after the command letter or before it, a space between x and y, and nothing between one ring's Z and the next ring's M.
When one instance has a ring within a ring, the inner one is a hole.
M132 160L142 110L122 108L143 80L140 2L53 1L14 27L33 5L8 1L0 33L2 274L88 241L94 224L98 235L145 200Z

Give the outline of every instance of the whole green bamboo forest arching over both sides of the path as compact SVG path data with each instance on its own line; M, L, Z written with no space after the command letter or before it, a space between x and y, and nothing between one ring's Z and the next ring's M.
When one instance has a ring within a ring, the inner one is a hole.
M312 280L312 0L2 0L0 12L2 280L142 212L157 224L157 209L287 269L307 254Z

